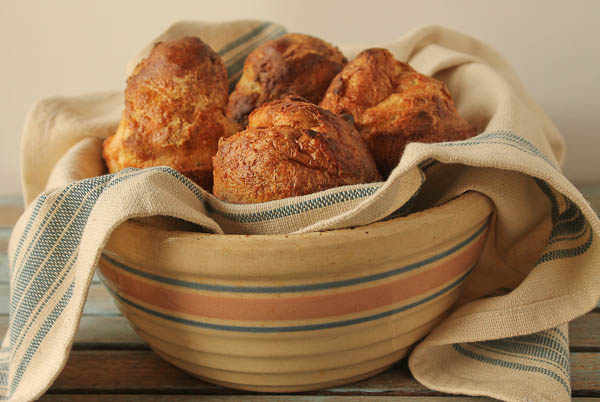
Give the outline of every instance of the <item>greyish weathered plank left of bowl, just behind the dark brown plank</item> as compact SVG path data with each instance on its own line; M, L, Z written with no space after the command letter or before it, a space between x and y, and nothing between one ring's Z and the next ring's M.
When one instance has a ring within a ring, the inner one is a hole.
M8 316L0 315L0 337L8 329ZM83 316L75 334L73 349L148 349L123 316Z

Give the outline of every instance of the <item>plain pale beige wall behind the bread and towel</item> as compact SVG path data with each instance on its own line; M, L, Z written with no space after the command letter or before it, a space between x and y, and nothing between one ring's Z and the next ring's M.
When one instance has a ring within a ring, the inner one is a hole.
M479 37L514 66L567 139L565 172L600 181L600 1L0 0L0 195L19 194L19 141L38 98L120 89L137 49L180 19L261 18L333 43L424 24Z

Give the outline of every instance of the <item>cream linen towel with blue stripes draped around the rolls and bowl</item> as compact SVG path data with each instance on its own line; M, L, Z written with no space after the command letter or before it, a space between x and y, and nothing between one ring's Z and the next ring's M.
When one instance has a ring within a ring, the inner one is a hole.
M184 22L158 40L201 37L219 50L233 83L248 52L283 32L254 21ZM444 80L459 112L483 133L409 145L384 183L265 204L225 204L164 167L102 176L101 141L118 124L121 91L38 102L22 147L28 208L9 244L10 323L0 349L0 399L35 399L56 378L100 250L129 218L176 216L215 233L298 233L406 212L417 193L423 206L474 190L496 207L484 254L460 307L412 352L411 372L444 392L569 400L566 323L598 302L600 222L561 173L560 134L509 65L476 39L425 27L382 46ZM342 50L351 58L361 49Z

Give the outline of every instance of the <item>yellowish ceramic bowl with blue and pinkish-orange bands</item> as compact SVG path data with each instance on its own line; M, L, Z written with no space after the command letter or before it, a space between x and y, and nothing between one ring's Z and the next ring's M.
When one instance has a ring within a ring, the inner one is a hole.
M99 262L135 331L206 381L313 390L406 356L460 295L485 243L483 195L300 235L215 235L130 221Z

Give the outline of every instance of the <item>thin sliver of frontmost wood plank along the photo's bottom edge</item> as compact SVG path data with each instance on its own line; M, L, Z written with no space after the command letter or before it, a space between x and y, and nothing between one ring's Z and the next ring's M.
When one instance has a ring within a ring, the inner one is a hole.
M408 396L315 396L315 395L244 395L244 402L462 402L466 397L424 396L415 400ZM53 395L46 394L39 399L41 402L238 402L240 395L218 396L204 395L201 398L194 395ZM469 402L493 402L495 399L472 397ZM579 399L575 402L598 402L598 399Z

